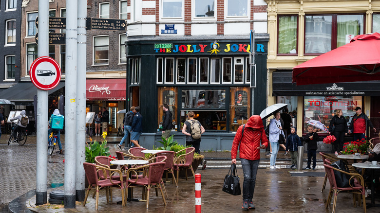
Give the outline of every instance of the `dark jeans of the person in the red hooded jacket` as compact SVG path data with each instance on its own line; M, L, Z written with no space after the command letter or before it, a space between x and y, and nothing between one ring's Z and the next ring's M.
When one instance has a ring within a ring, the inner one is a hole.
M273 148L272 148L273 149ZM243 199L252 200L256 185L256 174L260 160L240 159L243 168Z

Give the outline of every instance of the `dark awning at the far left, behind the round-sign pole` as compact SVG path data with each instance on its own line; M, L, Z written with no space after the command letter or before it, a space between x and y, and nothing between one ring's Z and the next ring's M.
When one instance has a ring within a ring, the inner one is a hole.
M48 90L49 95L65 86L65 82L59 82L57 87ZM37 87L32 82L19 82L18 84L0 92L1 99L7 99L12 102L33 101L37 95Z

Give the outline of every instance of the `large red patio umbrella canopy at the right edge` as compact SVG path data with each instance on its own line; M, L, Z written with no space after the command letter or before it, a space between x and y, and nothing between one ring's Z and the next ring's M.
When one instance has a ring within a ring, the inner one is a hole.
M293 68L297 85L380 80L380 34L357 35L350 43Z

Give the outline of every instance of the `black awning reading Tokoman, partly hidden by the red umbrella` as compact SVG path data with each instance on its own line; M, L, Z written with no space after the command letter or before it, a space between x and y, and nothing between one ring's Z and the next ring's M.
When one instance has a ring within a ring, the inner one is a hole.
M291 71L275 71L272 96L379 96L379 81L296 85Z

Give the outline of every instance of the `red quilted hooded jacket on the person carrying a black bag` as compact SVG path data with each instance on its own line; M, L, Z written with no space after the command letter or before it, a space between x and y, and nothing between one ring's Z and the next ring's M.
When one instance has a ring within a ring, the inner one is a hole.
M244 128L244 134L242 138L243 125L239 126L236 131L235 138L232 142L231 159L236 158L237 148L239 148L239 158L247 160L259 160L260 159L260 142L265 147L268 146L268 140L266 139L263 120L258 115L252 115Z

